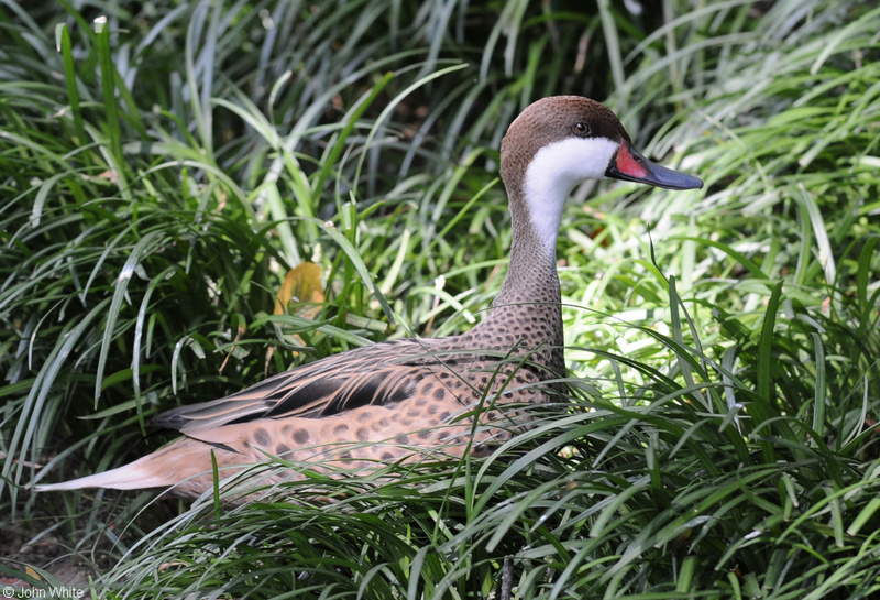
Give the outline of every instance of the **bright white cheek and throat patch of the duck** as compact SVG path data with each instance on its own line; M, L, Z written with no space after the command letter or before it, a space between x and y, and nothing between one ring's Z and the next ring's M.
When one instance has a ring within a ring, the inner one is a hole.
M556 252L562 208L575 185L602 179L618 144L604 138L566 138L540 149L526 171L529 216L547 250Z

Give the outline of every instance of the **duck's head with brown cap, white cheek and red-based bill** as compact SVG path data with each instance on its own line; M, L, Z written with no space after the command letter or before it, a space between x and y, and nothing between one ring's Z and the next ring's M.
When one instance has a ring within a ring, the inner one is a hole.
M565 199L586 179L609 177L669 189L703 187L694 176L647 160L614 112L580 96L553 96L527 107L502 140L501 173L512 210L525 204L547 246L556 243Z

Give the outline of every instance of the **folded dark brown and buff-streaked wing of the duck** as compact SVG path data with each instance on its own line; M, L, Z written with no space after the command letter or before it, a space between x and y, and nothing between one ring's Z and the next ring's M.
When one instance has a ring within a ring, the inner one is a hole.
M186 432L255 418L318 418L367 404L399 402L418 382L448 369L433 339L404 339L356 348L271 377L226 397L173 408L151 425Z

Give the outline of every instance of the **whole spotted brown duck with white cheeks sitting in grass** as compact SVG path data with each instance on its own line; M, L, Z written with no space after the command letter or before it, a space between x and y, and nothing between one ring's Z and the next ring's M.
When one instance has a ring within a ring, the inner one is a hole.
M301 466L363 469L497 448L527 426L524 407L549 403L565 377L556 249L574 187L605 178L703 186L646 159L612 110L580 96L542 98L522 110L502 140L499 166L513 228L509 266L482 323L452 337L352 349L173 408L151 423L183 434L165 447L35 489L172 488L196 498L217 477L273 458L287 468L271 469L264 483L302 479Z

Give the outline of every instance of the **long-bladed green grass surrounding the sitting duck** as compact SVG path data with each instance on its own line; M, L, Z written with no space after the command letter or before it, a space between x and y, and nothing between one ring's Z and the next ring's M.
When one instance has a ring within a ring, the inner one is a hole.
M0 0L3 577L876 598L878 32L869 0ZM26 489L157 448L179 403L470 327L509 246L499 139L556 94L706 187L575 192L571 397L535 429L231 510ZM275 314L302 261L320 284Z

